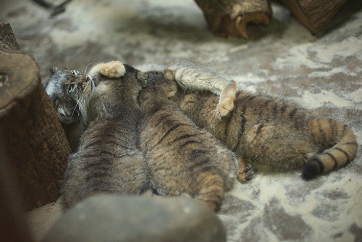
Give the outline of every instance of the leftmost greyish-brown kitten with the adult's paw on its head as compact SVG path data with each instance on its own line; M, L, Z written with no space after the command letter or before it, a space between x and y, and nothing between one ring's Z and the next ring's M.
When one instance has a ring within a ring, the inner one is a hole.
M102 72L112 68L116 72ZM144 85L138 70L118 62L98 64L90 73L100 80L89 107L95 120L68 159L61 190L65 208L97 193L140 194L148 183L146 163L137 148L137 95Z

